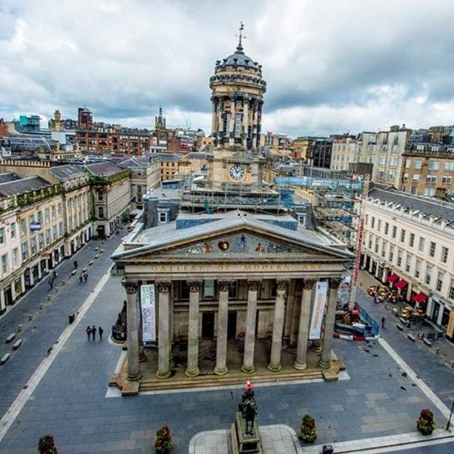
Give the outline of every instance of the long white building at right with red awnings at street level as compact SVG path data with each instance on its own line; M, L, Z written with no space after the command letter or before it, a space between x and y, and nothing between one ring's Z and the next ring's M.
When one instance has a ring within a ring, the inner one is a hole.
M454 204L374 188L365 216L362 268L453 339Z

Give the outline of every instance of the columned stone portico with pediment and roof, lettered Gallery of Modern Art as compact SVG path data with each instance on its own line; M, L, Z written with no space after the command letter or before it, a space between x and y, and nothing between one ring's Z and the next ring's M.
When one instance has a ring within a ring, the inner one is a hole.
M133 232L113 255L125 270L126 382L329 369L337 289L353 255L316 231L242 211L194 222ZM152 311L141 292L150 285ZM143 355L147 333L155 355Z

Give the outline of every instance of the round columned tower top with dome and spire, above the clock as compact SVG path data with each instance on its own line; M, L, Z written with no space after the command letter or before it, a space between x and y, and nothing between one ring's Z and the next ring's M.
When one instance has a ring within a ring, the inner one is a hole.
M217 60L210 78L212 131L218 148L255 150L262 123L267 83L262 65L243 51L243 23L233 54Z

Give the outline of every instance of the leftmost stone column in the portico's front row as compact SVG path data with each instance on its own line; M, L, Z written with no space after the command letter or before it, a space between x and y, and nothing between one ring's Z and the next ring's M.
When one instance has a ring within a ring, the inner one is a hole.
M134 382L140 378L137 282L121 282L126 290L126 320L128 323L128 380Z

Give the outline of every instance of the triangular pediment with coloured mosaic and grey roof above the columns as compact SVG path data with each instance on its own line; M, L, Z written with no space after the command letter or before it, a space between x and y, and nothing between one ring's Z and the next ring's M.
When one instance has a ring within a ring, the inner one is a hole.
M230 218L189 228L150 228L140 236L140 244L125 245L114 259L156 256L235 258L285 255L350 261L354 256L316 240L312 231L292 231L255 218Z

